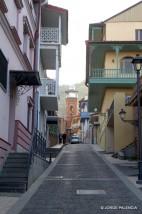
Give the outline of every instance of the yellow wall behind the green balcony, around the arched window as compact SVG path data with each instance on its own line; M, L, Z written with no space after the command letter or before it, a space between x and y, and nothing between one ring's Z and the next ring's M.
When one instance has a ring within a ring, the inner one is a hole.
M142 55L142 52L119 52L119 60L126 56L135 57L136 54ZM105 55L105 68L116 69L116 54L115 52L107 52Z

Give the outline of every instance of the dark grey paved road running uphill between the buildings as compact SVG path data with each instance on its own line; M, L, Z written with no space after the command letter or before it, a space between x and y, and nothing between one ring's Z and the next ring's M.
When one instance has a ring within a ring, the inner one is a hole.
M92 146L66 146L20 214L141 214L142 201Z

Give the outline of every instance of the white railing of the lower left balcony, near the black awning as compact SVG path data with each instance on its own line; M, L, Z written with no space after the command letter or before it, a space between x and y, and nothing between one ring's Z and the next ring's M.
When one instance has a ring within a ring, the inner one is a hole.
M40 96L56 96L56 81L41 78Z

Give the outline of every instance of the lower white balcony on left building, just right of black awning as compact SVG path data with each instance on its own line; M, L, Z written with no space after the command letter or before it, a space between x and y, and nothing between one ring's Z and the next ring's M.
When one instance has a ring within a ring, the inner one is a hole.
M41 78L40 102L45 110L58 110L58 97L56 91L56 81L53 79Z

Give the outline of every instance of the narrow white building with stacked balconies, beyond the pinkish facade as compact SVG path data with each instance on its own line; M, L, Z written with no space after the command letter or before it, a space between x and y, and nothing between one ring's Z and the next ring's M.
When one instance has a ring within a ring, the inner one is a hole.
M38 128L48 146L58 142L58 100L61 48L68 43L68 11L45 4L41 8Z

